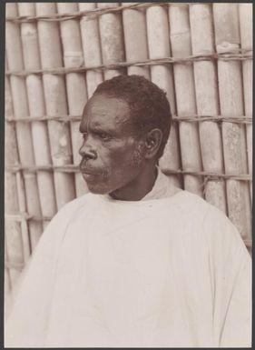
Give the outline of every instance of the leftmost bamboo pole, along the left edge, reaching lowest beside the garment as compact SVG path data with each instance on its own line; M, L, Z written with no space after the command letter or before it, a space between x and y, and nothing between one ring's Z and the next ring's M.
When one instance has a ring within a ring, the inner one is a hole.
M5 117L13 117L13 106L9 82L5 78ZM5 123L5 165L18 164L18 150L15 138L15 125ZM19 212L15 174L5 172L5 214L16 215ZM5 261L10 265L24 263L23 241L20 224L12 218L5 218ZM20 271L8 268L10 288L15 285Z

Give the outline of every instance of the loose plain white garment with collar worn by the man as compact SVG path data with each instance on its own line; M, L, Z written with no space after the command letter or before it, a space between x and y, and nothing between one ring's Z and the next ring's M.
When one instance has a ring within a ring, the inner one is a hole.
M88 194L55 215L5 346L250 346L250 255L217 208L165 197L168 181L160 173L142 201Z

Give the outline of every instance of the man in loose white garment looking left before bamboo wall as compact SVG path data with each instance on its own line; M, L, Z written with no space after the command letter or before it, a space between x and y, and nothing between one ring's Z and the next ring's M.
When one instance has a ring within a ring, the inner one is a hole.
M142 76L97 87L80 125L91 193L45 230L5 345L250 346L250 255L225 215L160 171L170 125Z

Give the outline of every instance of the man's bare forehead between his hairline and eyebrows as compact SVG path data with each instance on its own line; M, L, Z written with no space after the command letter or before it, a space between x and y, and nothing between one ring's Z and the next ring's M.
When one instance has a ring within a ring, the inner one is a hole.
M127 102L117 97L93 95L83 110L80 130L87 127L119 129L130 124L130 108Z

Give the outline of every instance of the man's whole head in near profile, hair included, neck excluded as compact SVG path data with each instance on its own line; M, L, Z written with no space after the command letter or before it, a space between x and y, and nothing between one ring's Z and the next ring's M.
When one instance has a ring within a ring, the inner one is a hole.
M170 126L165 94L144 77L119 75L98 85L80 125L81 171L89 189L112 194L137 186L141 179L146 185Z

